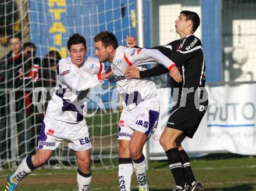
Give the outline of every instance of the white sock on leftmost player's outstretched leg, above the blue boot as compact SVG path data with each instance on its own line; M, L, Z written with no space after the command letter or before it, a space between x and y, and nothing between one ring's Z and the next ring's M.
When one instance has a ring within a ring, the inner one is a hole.
M31 169L27 165L27 157L23 159L22 163L20 163L17 170L10 177L10 182L15 183L17 185L19 181L21 181L25 176L31 173Z

